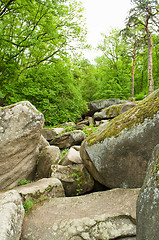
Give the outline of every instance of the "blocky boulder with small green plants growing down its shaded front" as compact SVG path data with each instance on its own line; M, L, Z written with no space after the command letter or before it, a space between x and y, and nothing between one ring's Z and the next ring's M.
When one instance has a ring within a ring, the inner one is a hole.
M89 192L94 186L94 180L83 164L54 165L51 176L62 182L67 197Z

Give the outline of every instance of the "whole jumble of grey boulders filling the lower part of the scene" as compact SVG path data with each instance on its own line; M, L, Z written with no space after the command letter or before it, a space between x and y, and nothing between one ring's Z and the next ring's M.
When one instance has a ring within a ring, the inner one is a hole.
M0 239L157 240L159 90L88 105L70 132L27 101L0 107Z

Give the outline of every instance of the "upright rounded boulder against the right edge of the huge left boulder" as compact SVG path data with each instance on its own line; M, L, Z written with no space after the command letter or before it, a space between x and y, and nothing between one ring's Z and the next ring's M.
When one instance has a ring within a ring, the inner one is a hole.
M61 151L56 146L46 146L38 157L36 179L47 178L51 175L51 165L60 161Z

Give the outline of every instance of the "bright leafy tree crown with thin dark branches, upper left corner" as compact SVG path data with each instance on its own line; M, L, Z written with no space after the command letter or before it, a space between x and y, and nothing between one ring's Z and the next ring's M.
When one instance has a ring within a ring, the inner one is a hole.
M1 75L15 61L19 73L64 57L72 41L83 42L82 8L75 1L1 1ZM15 64L15 65L16 65Z

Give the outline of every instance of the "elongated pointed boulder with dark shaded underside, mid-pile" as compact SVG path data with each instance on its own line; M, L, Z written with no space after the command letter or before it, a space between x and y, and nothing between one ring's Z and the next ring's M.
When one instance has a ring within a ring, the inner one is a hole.
M60 149L69 148L73 145L80 145L85 138L85 133L81 130L70 131L55 137L50 145L58 146Z

